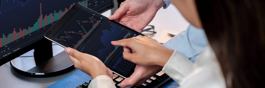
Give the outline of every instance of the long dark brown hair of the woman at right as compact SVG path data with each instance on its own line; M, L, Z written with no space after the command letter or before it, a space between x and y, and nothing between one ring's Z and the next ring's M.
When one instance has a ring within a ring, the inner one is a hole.
M195 0L228 88L265 88L265 0Z

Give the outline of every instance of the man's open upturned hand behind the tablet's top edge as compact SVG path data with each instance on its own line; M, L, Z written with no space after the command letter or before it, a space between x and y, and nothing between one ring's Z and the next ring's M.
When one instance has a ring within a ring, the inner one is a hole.
M126 0L109 19L141 32L164 4L162 0Z

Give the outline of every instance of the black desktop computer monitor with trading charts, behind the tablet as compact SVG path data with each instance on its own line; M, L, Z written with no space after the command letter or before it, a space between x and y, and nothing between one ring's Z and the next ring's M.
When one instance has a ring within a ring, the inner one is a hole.
M35 60L51 58L44 34L76 3L99 13L113 7L113 0L0 0L0 66L32 49Z

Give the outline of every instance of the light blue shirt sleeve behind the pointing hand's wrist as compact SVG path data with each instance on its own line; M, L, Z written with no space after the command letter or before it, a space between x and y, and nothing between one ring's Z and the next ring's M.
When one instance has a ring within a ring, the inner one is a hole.
M204 30L189 25L186 31L180 32L164 43L163 46L178 51L194 62L207 44L208 41Z

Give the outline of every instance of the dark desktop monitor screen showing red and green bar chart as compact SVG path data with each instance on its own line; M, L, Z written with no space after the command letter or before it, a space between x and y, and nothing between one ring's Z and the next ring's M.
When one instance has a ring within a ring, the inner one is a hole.
M39 2L39 4L35 4ZM56 4L57 3L57 4ZM58 6L58 3L60 5ZM0 47L18 40L32 32L39 30L60 19L75 3L87 6L86 0L56 2L53 0L33 1L33 0L1 0L1 25ZM5 6L8 5L8 6ZM43 8L45 7L45 8ZM48 8L47 8L48 7ZM50 10L50 8L61 7L61 9ZM24 10L29 9L30 10ZM47 10L49 9L49 10ZM13 13L8 16L6 14ZM20 14L27 13L27 14ZM34 14L34 16L33 16ZM12 21L12 19L14 19ZM20 19L17 21L17 19ZM27 22L25 22L27 21ZM14 22L16 24L14 24ZM13 24L12 24L13 23Z

